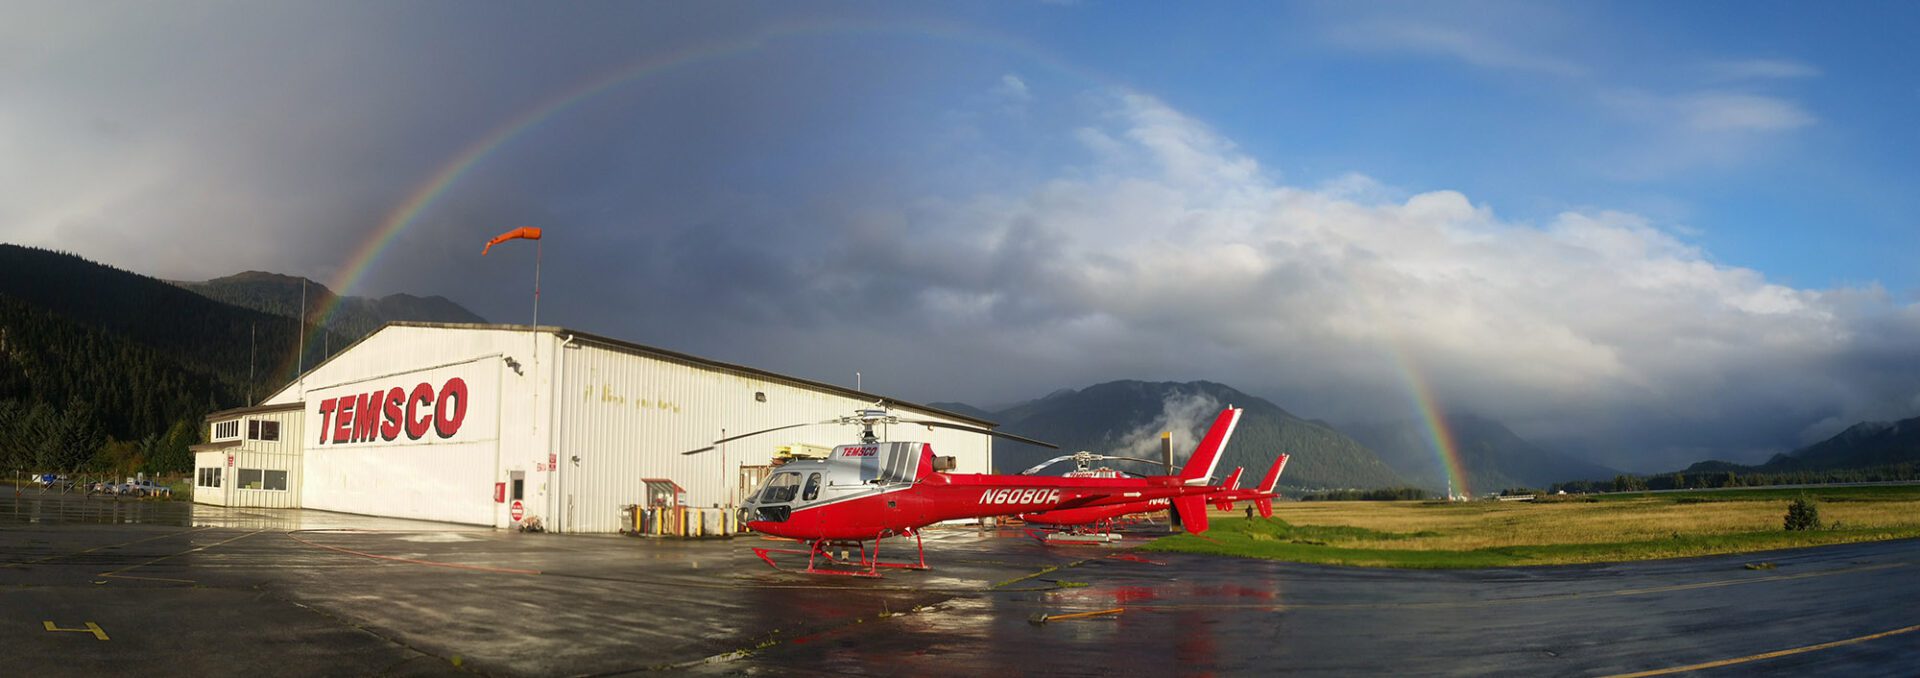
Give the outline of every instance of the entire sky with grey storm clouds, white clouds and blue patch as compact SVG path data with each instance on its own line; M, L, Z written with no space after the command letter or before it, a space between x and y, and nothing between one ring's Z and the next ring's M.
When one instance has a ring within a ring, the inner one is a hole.
M1419 376L1617 467L1763 461L1920 415L1916 15L25 2L0 240L520 321L530 255L476 248L540 225L541 321L908 400L1388 421Z

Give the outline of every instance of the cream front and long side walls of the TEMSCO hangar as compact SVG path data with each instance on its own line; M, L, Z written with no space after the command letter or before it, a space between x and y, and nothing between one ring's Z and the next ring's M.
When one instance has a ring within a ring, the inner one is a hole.
M474 403L461 438L470 428L476 436L470 444L319 442L323 400L376 386L409 386L422 380L417 376L422 373L434 373L428 382L440 384L440 371L492 375L467 375ZM515 524L513 499L495 501L495 484L511 488L515 478L522 478L524 517L564 532L630 526L620 521L620 507L643 501L641 478L678 482L695 507L733 505L739 467L766 465L780 446L854 442L856 430L793 428L703 455L680 453L703 448L722 432L835 419L872 403L778 376L574 338L566 330L409 325L374 332L267 401L303 403L303 415L290 413L294 423L284 428L305 426L305 432L288 438L305 451L303 478L296 480L301 488L298 505L505 528ZM962 472L989 471L989 436L897 428L904 430L881 430L881 436L929 442L935 453L958 457Z

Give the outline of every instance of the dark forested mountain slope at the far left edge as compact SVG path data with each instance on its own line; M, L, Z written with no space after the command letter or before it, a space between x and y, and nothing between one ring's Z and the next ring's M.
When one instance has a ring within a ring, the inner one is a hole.
M298 330L144 275L0 244L0 472L190 467L207 413L292 378ZM323 357L307 353L309 367Z

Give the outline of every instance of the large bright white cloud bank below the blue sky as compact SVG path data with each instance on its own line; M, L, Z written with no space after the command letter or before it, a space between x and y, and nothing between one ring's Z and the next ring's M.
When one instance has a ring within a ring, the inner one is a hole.
M1678 446L1659 436L1697 436L1690 426L1805 417L1761 424L1791 436L1816 411L1845 419L1910 398L1849 382L1859 373L1836 359L1859 353L1859 334L1884 334L1862 323L1920 311L1768 282L1632 213L1536 227L1459 192L1400 198L1357 175L1288 186L1133 92L1075 136L1091 167L912 227L972 234L939 259L1006 275L929 277L904 257L883 278L983 319L972 340L1002 357L1068 363L1087 382L1217 378L1352 421L1404 415L1413 365L1450 411L1548 442L1615 440L1630 446L1622 465ZM1701 448L1713 446L1688 449Z

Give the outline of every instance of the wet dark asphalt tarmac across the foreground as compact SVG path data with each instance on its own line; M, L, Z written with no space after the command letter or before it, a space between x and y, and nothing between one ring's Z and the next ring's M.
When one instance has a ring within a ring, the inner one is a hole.
M6 490L0 674L1920 674L1914 540L1421 572L947 528L879 580L749 545Z

